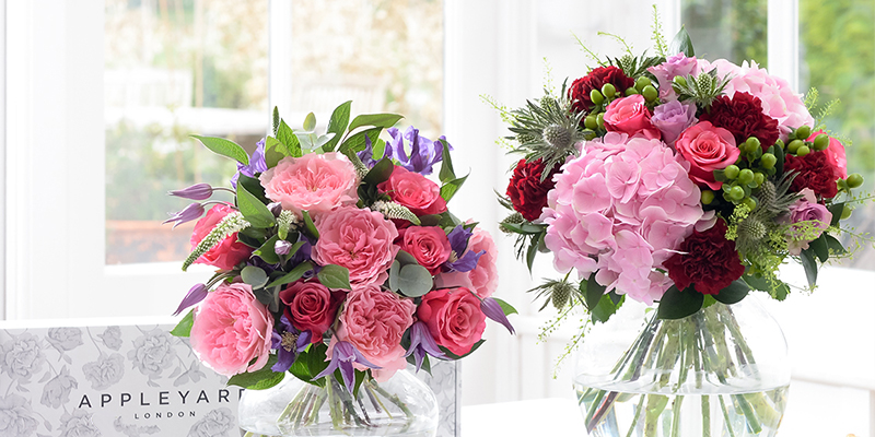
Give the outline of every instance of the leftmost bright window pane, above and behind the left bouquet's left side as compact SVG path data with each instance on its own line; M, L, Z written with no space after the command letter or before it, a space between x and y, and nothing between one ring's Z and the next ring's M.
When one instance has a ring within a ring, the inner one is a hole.
M235 170L190 133L254 149L267 131L268 0L106 0L106 263L182 260L171 189ZM186 229L187 228L187 229Z

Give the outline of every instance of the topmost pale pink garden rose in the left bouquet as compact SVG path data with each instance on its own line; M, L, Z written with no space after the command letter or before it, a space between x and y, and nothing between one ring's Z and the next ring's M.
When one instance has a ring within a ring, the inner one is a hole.
M268 199L282 203L283 210L311 214L355 204L359 177L355 167L341 153L308 153L287 156L259 177Z

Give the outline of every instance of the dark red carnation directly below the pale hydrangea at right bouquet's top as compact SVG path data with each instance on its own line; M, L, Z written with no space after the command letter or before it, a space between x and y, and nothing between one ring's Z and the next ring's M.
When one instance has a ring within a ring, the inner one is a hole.
M762 102L748 93L718 97L699 119L732 132L736 144L756 137L765 151L778 141L778 120L762 114Z

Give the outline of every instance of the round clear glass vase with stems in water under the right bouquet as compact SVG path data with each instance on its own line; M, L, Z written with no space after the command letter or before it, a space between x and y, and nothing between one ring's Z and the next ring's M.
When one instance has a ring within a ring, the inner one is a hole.
M631 304L631 305L630 305ZM774 319L747 296L679 320L623 306L576 352L574 387L590 436L774 436L790 364Z

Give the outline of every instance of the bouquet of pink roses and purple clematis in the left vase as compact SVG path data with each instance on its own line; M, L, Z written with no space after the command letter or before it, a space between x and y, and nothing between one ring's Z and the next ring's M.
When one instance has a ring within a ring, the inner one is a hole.
M229 383L267 389L293 376L354 397L408 363L429 370L472 353L488 318L513 332L513 308L492 297L495 244L447 210L466 178L452 146L395 128L399 115L350 120L350 106L324 134L313 114L294 131L275 110L253 154L196 137L238 172L232 188L172 192L195 202L167 222L198 220L183 270L218 269L183 299L177 314L197 307L173 333Z

